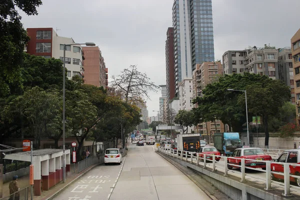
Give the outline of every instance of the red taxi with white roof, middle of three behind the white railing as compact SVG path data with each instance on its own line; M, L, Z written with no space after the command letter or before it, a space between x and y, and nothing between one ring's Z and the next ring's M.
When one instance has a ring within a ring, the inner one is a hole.
M264 154L261 148L236 148L232 157L228 157L228 169L240 168L238 166L232 166L230 164L240 165L241 160L236 158L244 159L255 159L255 160L245 160L245 166L251 168L262 168L265 169L265 162L259 162L259 160L272 160L272 157ZM230 164L229 164L230 163Z

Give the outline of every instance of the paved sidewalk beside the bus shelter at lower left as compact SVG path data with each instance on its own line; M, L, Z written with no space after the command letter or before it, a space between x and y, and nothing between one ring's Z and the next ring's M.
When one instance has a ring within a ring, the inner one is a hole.
M61 182L57 183L55 186L51 187L49 190L42 191L40 196L33 196L33 199L34 200L46 200L46 199L52 197L54 194L58 193L59 191L63 190L64 188L66 188L69 184L71 184L73 181L75 181L77 178L79 178L84 173L88 172L90 169L92 169L96 165L98 165L98 164L90 165L86 169L82 170L80 173L73 173L73 165L71 164L70 173L67 174L67 176L65 178L65 183L62 183L62 181L61 181ZM30 199L29 175L18 178L18 185L19 185L20 189L29 186L29 199ZM2 188L3 188L2 196L3 197L9 195L8 186L9 186L9 182L3 183L3 186L2 186Z

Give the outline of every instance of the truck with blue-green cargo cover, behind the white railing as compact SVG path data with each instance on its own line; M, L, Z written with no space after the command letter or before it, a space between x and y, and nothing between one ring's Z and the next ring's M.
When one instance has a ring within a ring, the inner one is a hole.
M225 156L231 156L235 148L242 147L238 132L215 132L213 145Z

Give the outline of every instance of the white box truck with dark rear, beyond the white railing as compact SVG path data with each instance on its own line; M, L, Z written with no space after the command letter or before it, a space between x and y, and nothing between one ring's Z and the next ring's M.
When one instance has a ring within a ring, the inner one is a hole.
M177 134L177 149L196 152L200 144L199 133Z

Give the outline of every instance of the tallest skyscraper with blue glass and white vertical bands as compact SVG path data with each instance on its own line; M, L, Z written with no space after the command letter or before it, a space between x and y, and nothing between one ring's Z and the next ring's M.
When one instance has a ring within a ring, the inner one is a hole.
M196 63L214 60L211 0L174 0L175 96L179 83L192 76Z

